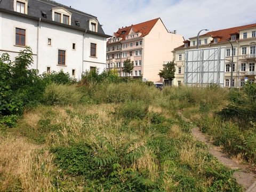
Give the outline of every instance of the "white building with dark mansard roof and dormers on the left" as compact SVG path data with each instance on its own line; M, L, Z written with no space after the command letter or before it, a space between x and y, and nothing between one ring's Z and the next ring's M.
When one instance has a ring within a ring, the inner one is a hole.
M0 1L0 54L33 50L39 73L63 70L75 78L106 69L106 35L97 17L50 0Z

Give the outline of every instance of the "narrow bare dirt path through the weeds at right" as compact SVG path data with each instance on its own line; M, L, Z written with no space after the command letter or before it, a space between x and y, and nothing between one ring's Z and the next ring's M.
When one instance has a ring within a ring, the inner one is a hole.
M181 113L179 113L179 115L185 121L189 122L189 119L183 117ZM212 145L198 127L194 127L191 132L195 139L204 142L209 147L209 152L216 157L219 162L226 167L229 167L231 170L235 170L233 176L237 183L243 186L246 192L256 192L256 175L254 173L247 171L245 166L236 163L229 155L222 153L218 147Z

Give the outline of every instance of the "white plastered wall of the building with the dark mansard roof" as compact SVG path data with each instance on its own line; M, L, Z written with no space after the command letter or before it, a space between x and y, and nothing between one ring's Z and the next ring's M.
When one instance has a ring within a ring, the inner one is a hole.
M39 28L37 28L38 23ZM106 69L106 37L84 34L83 31L75 29L0 13L0 53L9 53L12 61L18 56L20 50L25 49L25 46L15 45L16 27L26 29L26 45L33 50L34 64L31 68L38 69L41 74L46 72L47 67L50 67L51 71L63 70L70 75L72 70L75 70L74 77L79 79L82 72L90 70L90 67L97 67L100 72ZM48 45L48 38L51 39L51 45ZM75 50L73 50L73 43L76 44ZM90 57L91 43L97 44L97 57ZM65 66L58 65L58 50L66 51Z

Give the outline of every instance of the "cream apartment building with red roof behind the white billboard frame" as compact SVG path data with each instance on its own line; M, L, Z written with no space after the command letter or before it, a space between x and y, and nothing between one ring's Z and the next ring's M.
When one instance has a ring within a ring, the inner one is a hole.
M232 43L234 65L231 66L231 44ZM184 64L185 51L196 49L197 37L191 37L183 42L183 45L174 49L174 61L177 64L177 70L174 79L174 85L178 86L184 83ZM199 36L199 49L206 47L226 47L226 69L225 86L233 83L234 87L242 87L245 82L255 82L255 47L256 47L256 23L251 25L233 27L210 31ZM231 70L233 70L233 82L230 82Z

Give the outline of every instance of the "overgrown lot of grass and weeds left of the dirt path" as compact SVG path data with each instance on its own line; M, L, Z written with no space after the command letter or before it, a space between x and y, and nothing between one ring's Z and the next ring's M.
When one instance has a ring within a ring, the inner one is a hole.
M2 128L0 190L241 191L193 139L168 91L140 82L46 87L44 105Z

